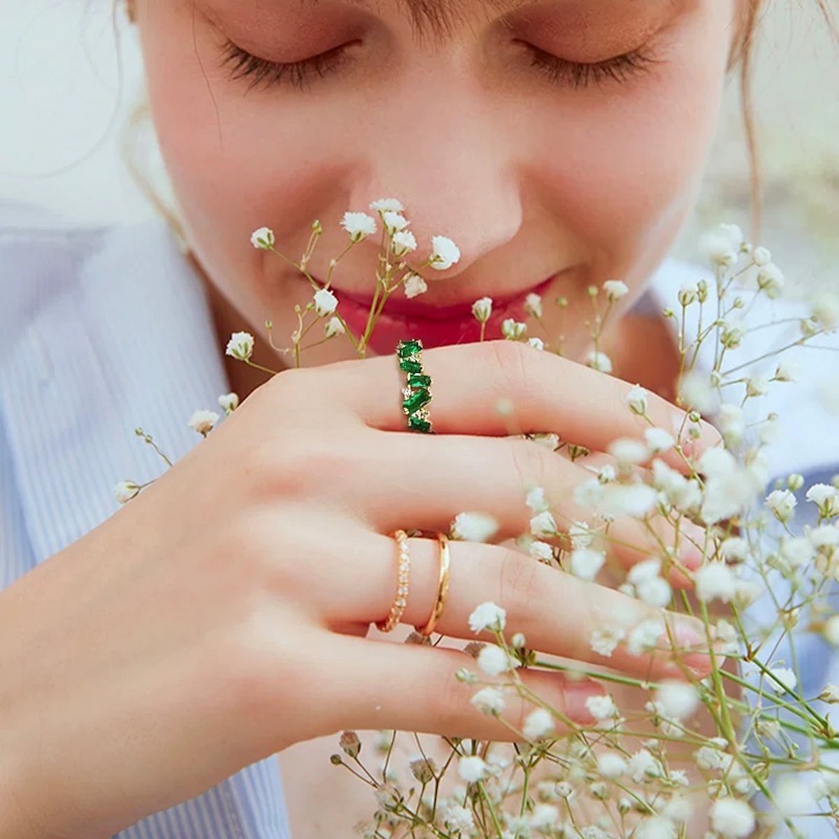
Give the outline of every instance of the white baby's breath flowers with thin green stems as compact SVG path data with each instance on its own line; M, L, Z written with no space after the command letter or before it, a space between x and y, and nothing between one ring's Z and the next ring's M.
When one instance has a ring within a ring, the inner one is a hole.
M268 227L253 233L255 248L276 253L312 285L310 302L295 307L297 326L289 346L275 347L271 341L275 352L289 358L289 366L300 366L301 354L325 341L350 341L364 357L390 295L423 294L431 279L425 268L445 270L460 258L451 239L437 236L425 262L409 264L417 242L402 204L382 199L369 209L376 216L343 216L347 248L331 260L323 284L307 270L322 233L319 221L297 262L275 248ZM379 227L373 303L365 329L356 335L341 318L331 276L344 254ZM836 331L839 298L821 293L802 303L795 318L765 321L763 304L771 307L784 286L769 250L746 242L732 224L706 234L704 245L710 261L707 278L682 285L662 313L674 321L678 336L676 403L685 409L680 427L656 427L647 414L648 394L636 386L625 408L649 425L644 440L614 440L605 456L592 455L550 430L524 434L511 426L510 433L579 461L591 476L574 491L577 508L586 511L576 521L558 523L542 487L522 487L532 518L529 533L515 540L519 549L556 573L601 581L608 576L630 597L699 618L711 675L696 675L690 667L696 647L680 645L674 628L658 620L629 625L615 614L590 639L591 648L608 659L618 649L649 653L663 634L670 636L679 672L654 681L539 654L529 649L519 628L508 625L503 608L476 603L470 628L489 630L495 643L468 644L473 666L463 667L458 678L473 686L478 711L502 719L511 697L524 700L529 711L518 727L503 721L511 730L510 743L384 731L368 758L357 733L343 732L331 762L357 775L374 793L372 816L356 826L357 835L744 839L774 831L805 836L815 819L829 820L839 830L839 736L829 716L831 704L839 702L839 685L804 690L797 652L812 638L839 647L839 614L831 602L839 580L839 476L831 484L804 487L803 477L789 474L770 487L766 449L779 417L764 407L774 388L794 387L800 367L789 360L791 351L818 346L820 336ZM605 374L612 364L602 352L601 338L614 304L627 293L627 286L615 279L588 289L594 348L586 363ZM561 355L562 336L550 336L544 328L544 305L564 308L567 301L559 297L548 304L530 294L527 322L505 320L503 338ZM472 312L483 341L492 300L476 300ZM747 323L749 318L757 322ZM266 327L270 335L270 321ZM532 327L542 328L544 337L529 336ZM746 357L748 336L756 333L773 338L763 340L758 357ZM253 362L253 341L247 332L234 333L227 354L276 373ZM221 396L219 404L230 414L237 394ZM503 400L498 410L513 417ZM700 435L703 414L714 418L724 445L695 457L690 441ZM219 419L213 411L199 410L190 425L206 436ZM145 431L137 433L155 446ZM684 470L665 461L664 453L673 451ZM135 482L120 482L117 498L124 503L142 489ZM811 513L804 529L794 527L797 493ZM659 549L628 572L612 567L609 559L617 517L637 521ZM662 538L662 524L669 525L672 538ZM463 511L448 535L484 541L497 529L486 513ZM686 541L697 557L690 566L681 559ZM406 643L431 642L412 633ZM520 677L529 668L607 685L607 695L587 702L595 722L575 724L535 695ZM404 766L396 769L400 754Z

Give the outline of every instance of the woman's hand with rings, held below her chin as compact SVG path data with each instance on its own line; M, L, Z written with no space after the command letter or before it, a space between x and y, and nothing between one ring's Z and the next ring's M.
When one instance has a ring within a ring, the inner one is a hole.
M362 637L393 599L389 534L446 530L464 510L492 514L499 539L520 533L531 483L565 503L588 473L504 437L501 397L522 430L557 430L592 451L644 425L623 404L627 383L530 347L491 341L423 360L436 435L404 430L393 357L289 370L110 519L0 593L0 773L17 814L0 836L110 836L341 728L511 738L456 679L474 664L466 654ZM674 412L649 397L665 429ZM702 445L717 440L708 426ZM668 460L680 466L675 452ZM410 547L404 622L421 624L435 600L436 543ZM666 650L605 659L591 649L592 631L616 615L640 623L663 612L517 550L451 543L438 631L475 639L467 618L486 601L547 654L635 675L679 672ZM704 637L688 618L673 625L682 643ZM703 654L685 661L709 667ZM521 677L580 721L600 692L548 671ZM505 719L520 727L529 710L510 701Z

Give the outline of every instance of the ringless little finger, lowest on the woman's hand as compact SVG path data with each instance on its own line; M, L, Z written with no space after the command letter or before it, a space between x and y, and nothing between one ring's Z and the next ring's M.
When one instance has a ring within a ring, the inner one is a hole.
M525 719L537 707L508 687L502 690L498 718L479 710L472 697L500 680L487 675L478 685L459 680L461 668L477 670L475 659L460 650L336 636L331 655L329 681L341 686L341 701L334 704L341 715L336 729L393 728L513 742L524 739ZM519 676L528 690L558 712L557 736L573 730L573 723L595 722L586 700L604 693L597 683L545 670L524 670Z

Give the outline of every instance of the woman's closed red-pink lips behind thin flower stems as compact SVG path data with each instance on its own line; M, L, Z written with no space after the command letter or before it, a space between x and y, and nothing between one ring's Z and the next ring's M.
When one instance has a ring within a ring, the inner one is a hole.
M559 276L560 274L552 274L548 279L532 288L524 289L519 294L498 300L493 298L492 315L487 320L484 337L500 338L503 320L509 317L524 320L524 301L528 294L544 294ZM338 298L339 314L353 334L360 335L367 326L371 301L353 297L341 289L334 290ZM393 352L399 341L409 338L420 338L423 346L427 348L472 343L480 339L481 325L472 315L474 301L436 306L404 297L400 299L396 297L397 294L401 292L393 292L388 298L368 342L368 346L379 355ZM481 296L483 295L478 295Z

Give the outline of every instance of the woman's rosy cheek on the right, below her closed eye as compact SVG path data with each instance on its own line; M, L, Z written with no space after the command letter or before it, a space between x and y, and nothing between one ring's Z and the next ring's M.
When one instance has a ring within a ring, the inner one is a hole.
M604 88L599 104L552 114L550 144L534 155L564 225L624 266L664 255L696 200L725 81L716 27L672 44L668 64L626 92L613 84L610 101Z

